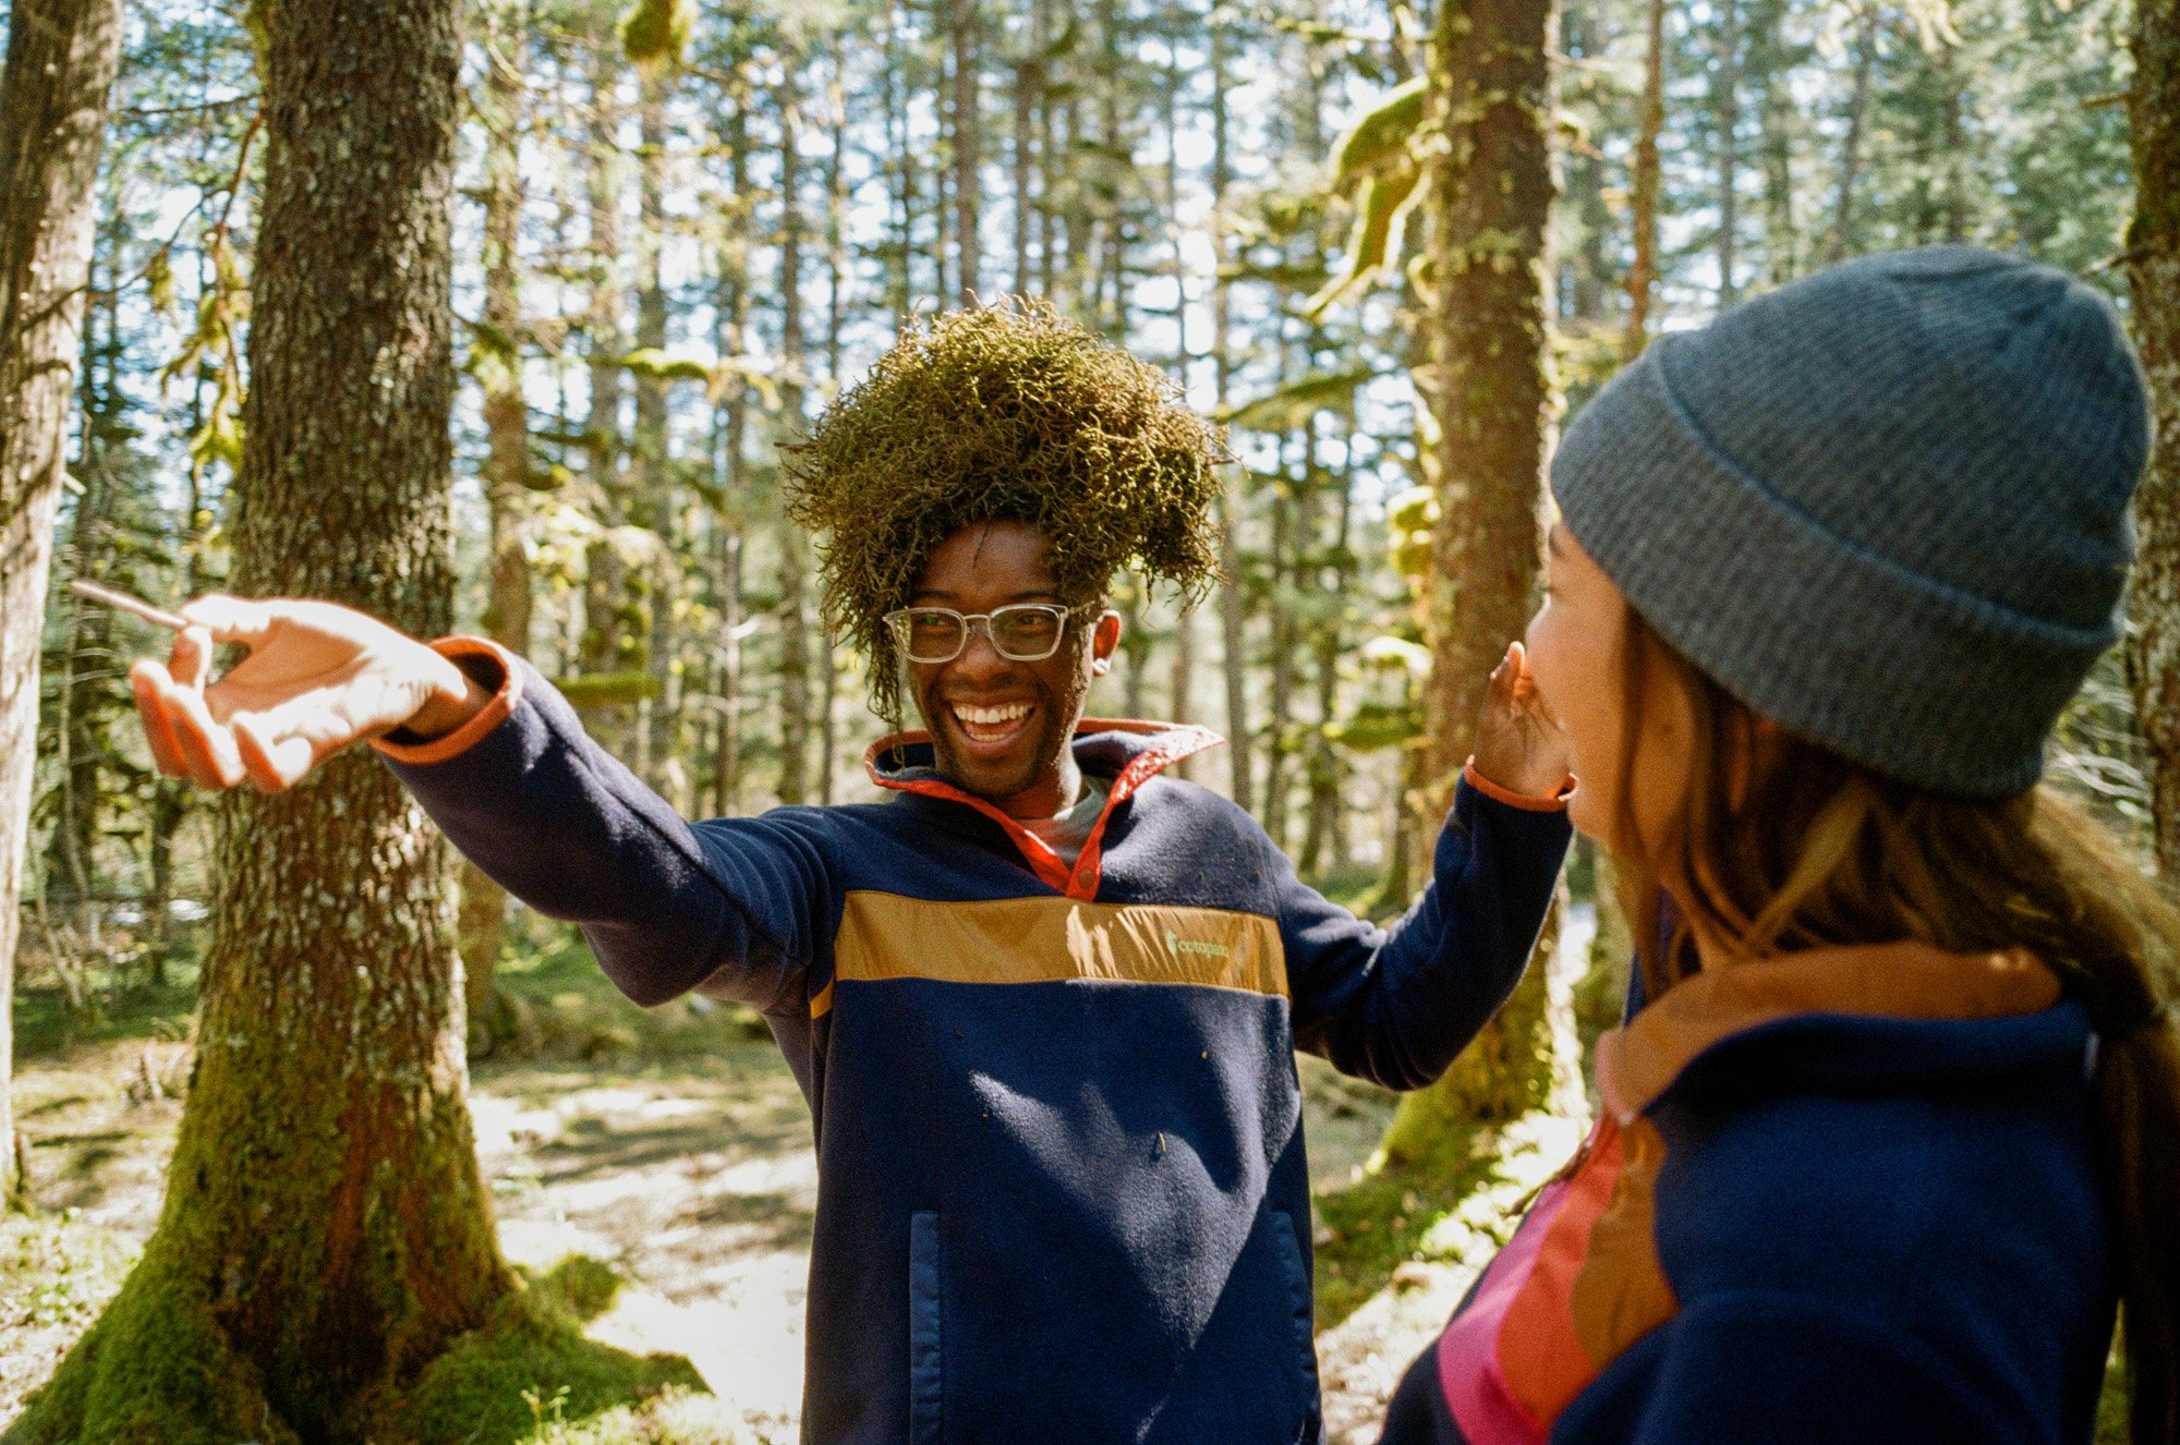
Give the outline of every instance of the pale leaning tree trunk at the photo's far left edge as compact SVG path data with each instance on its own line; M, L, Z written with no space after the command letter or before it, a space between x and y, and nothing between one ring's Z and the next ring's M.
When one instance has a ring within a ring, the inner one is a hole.
M0 72L0 1205L13 1201L11 998L37 763L37 654L118 0L15 0Z

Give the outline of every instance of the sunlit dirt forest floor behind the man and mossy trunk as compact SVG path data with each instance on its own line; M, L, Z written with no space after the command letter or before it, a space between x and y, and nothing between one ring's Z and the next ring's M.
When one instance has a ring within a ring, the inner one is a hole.
M96 1319L150 1236L187 1066L185 1044L126 1042L33 1059L17 1074L48 1223L17 1238L13 1258L0 1244L0 1419ZM1312 1177L1336 1188L1382 1133L1391 1096L1317 1059L1301 1070ZM818 1159L809 1109L772 1044L722 1040L711 1057L671 1066L486 1064L471 1112L506 1255L536 1268L567 1253L606 1260L630 1284L593 1325L597 1338L689 1356L754 1434L791 1441ZM52 1218L63 1212L74 1234ZM1413 1290L1400 1295L1413 1303ZM1378 1327L1362 1347L1341 1343L1360 1338L1354 1321L1328 1334L1328 1406L1371 1417L1371 1395L1382 1401L1443 1321L1430 1310L1402 1312L1419 1323Z

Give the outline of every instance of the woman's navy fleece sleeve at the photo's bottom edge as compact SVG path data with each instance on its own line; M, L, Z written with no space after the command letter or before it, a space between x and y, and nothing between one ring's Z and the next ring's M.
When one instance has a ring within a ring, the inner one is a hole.
M2008 1445L2047 1434L1897 1325L1822 1299L1692 1303L1559 1417L1554 1445Z

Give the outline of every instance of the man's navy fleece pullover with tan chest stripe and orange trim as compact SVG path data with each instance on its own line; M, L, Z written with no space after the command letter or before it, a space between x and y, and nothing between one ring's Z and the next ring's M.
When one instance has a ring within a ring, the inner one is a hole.
M1319 1436L1299 1044L1437 1079L1513 989L1567 846L1474 772L1437 881L1376 928L1158 776L1199 728L1086 721L1075 867L889 739L892 802L687 824L525 663L453 737L382 743L453 843L606 974L763 1011L818 1133L804 1438Z

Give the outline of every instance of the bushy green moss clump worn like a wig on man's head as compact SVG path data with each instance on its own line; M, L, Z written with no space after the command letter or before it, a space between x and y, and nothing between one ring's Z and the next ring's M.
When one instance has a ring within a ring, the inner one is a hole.
M1219 578L1210 521L1219 429L1179 386L1038 301L911 325L787 456L787 512L822 536L826 621L872 660L900 717L883 617L931 549L981 521L1044 534L1073 602L1127 564L1199 597Z

